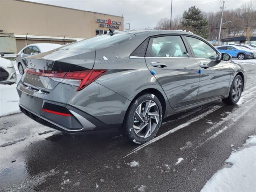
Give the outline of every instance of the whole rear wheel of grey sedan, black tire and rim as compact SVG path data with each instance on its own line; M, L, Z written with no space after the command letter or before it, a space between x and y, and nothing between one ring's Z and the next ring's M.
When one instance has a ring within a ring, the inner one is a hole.
M122 131L134 143L144 144L154 138L161 122L162 105L159 99L154 94L143 94L130 104Z

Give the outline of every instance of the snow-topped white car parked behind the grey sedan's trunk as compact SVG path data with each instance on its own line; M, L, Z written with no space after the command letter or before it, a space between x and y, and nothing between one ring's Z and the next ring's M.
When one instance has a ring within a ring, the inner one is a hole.
M54 43L36 43L36 44L30 44L26 47L24 47L20 52L18 52L16 56L17 60L17 67L20 72L20 74L24 74L24 71L26 69L26 65L24 62L22 62L22 59L31 55L40 54L43 52L47 52L56 48L59 48L60 44L54 44Z

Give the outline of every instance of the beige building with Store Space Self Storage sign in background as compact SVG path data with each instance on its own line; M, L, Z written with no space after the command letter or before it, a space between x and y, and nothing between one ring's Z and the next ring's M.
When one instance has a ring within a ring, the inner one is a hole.
M109 28L124 30L124 17L22 0L0 0L0 38L15 37L16 52L32 43L75 42L105 34Z

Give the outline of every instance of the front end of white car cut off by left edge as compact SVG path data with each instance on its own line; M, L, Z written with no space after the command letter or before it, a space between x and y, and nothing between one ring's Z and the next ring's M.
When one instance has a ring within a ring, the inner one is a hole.
M10 60L0 58L0 84L14 84L17 80L16 70Z

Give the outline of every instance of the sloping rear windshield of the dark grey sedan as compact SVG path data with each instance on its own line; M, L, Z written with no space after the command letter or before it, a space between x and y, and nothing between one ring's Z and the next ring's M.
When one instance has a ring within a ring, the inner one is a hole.
M112 36L110 34L99 35L93 38L85 39L67 46L64 49L100 49L112 45L120 44L126 40L133 38L135 35L130 33L116 33Z

